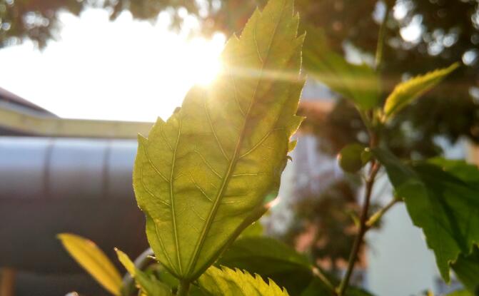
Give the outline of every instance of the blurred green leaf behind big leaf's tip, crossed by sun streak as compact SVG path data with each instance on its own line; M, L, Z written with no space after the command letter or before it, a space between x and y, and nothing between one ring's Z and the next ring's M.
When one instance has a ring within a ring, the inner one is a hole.
M303 64L308 74L360 108L377 106L380 80L373 68L348 63L343 56L331 50L323 30L308 27L307 31Z

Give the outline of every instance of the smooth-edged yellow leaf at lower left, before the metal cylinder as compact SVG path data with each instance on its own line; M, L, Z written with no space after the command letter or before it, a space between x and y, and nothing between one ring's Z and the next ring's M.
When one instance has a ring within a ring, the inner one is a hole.
M111 294L119 296L121 275L113 263L91 240L79 235L61 233L57 238L64 245L71 257L84 267L94 279Z

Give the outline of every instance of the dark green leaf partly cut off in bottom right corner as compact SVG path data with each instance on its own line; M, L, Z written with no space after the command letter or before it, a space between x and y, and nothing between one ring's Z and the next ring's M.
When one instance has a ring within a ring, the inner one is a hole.
M479 248L477 246L471 254L460 255L453 264L453 270L470 292L479 294Z

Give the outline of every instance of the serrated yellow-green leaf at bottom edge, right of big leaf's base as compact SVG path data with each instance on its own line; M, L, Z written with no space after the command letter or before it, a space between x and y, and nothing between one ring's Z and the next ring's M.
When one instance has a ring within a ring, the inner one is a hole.
M275 282L263 281L259 276L248 272L232 270L228 267L209 267L198 279L198 283L207 295L211 296L287 296Z

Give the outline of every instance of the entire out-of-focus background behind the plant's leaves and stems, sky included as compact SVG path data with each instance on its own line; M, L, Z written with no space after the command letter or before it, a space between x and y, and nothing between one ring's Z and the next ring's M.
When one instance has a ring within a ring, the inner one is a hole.
M254 0L0 0L0 295L104 295L66 255L57 233L94 240L114 257L146 249L131 170L136 135L167 119L194 83L208 84L228 36ZM373 63L386 22L384 94L417 73L463 66L405 108L388 131L390 149L479 161L477 0L297 0L302 26L321 26L351 63ZM309 79L308 116L283 174L280 202L264 231L341 272L353 242L351 211L362 188L336 153L364 142L356 110ZM373 195L391 196L385 175ZM116 262L116 260L114 260ZM393 268L391 267L393 266ZM438 294L440 280L422 233L397 205L371 232L357 284L377 295ZM4 293L4 294L2 294ZM9 294L7 294L9 293Z

